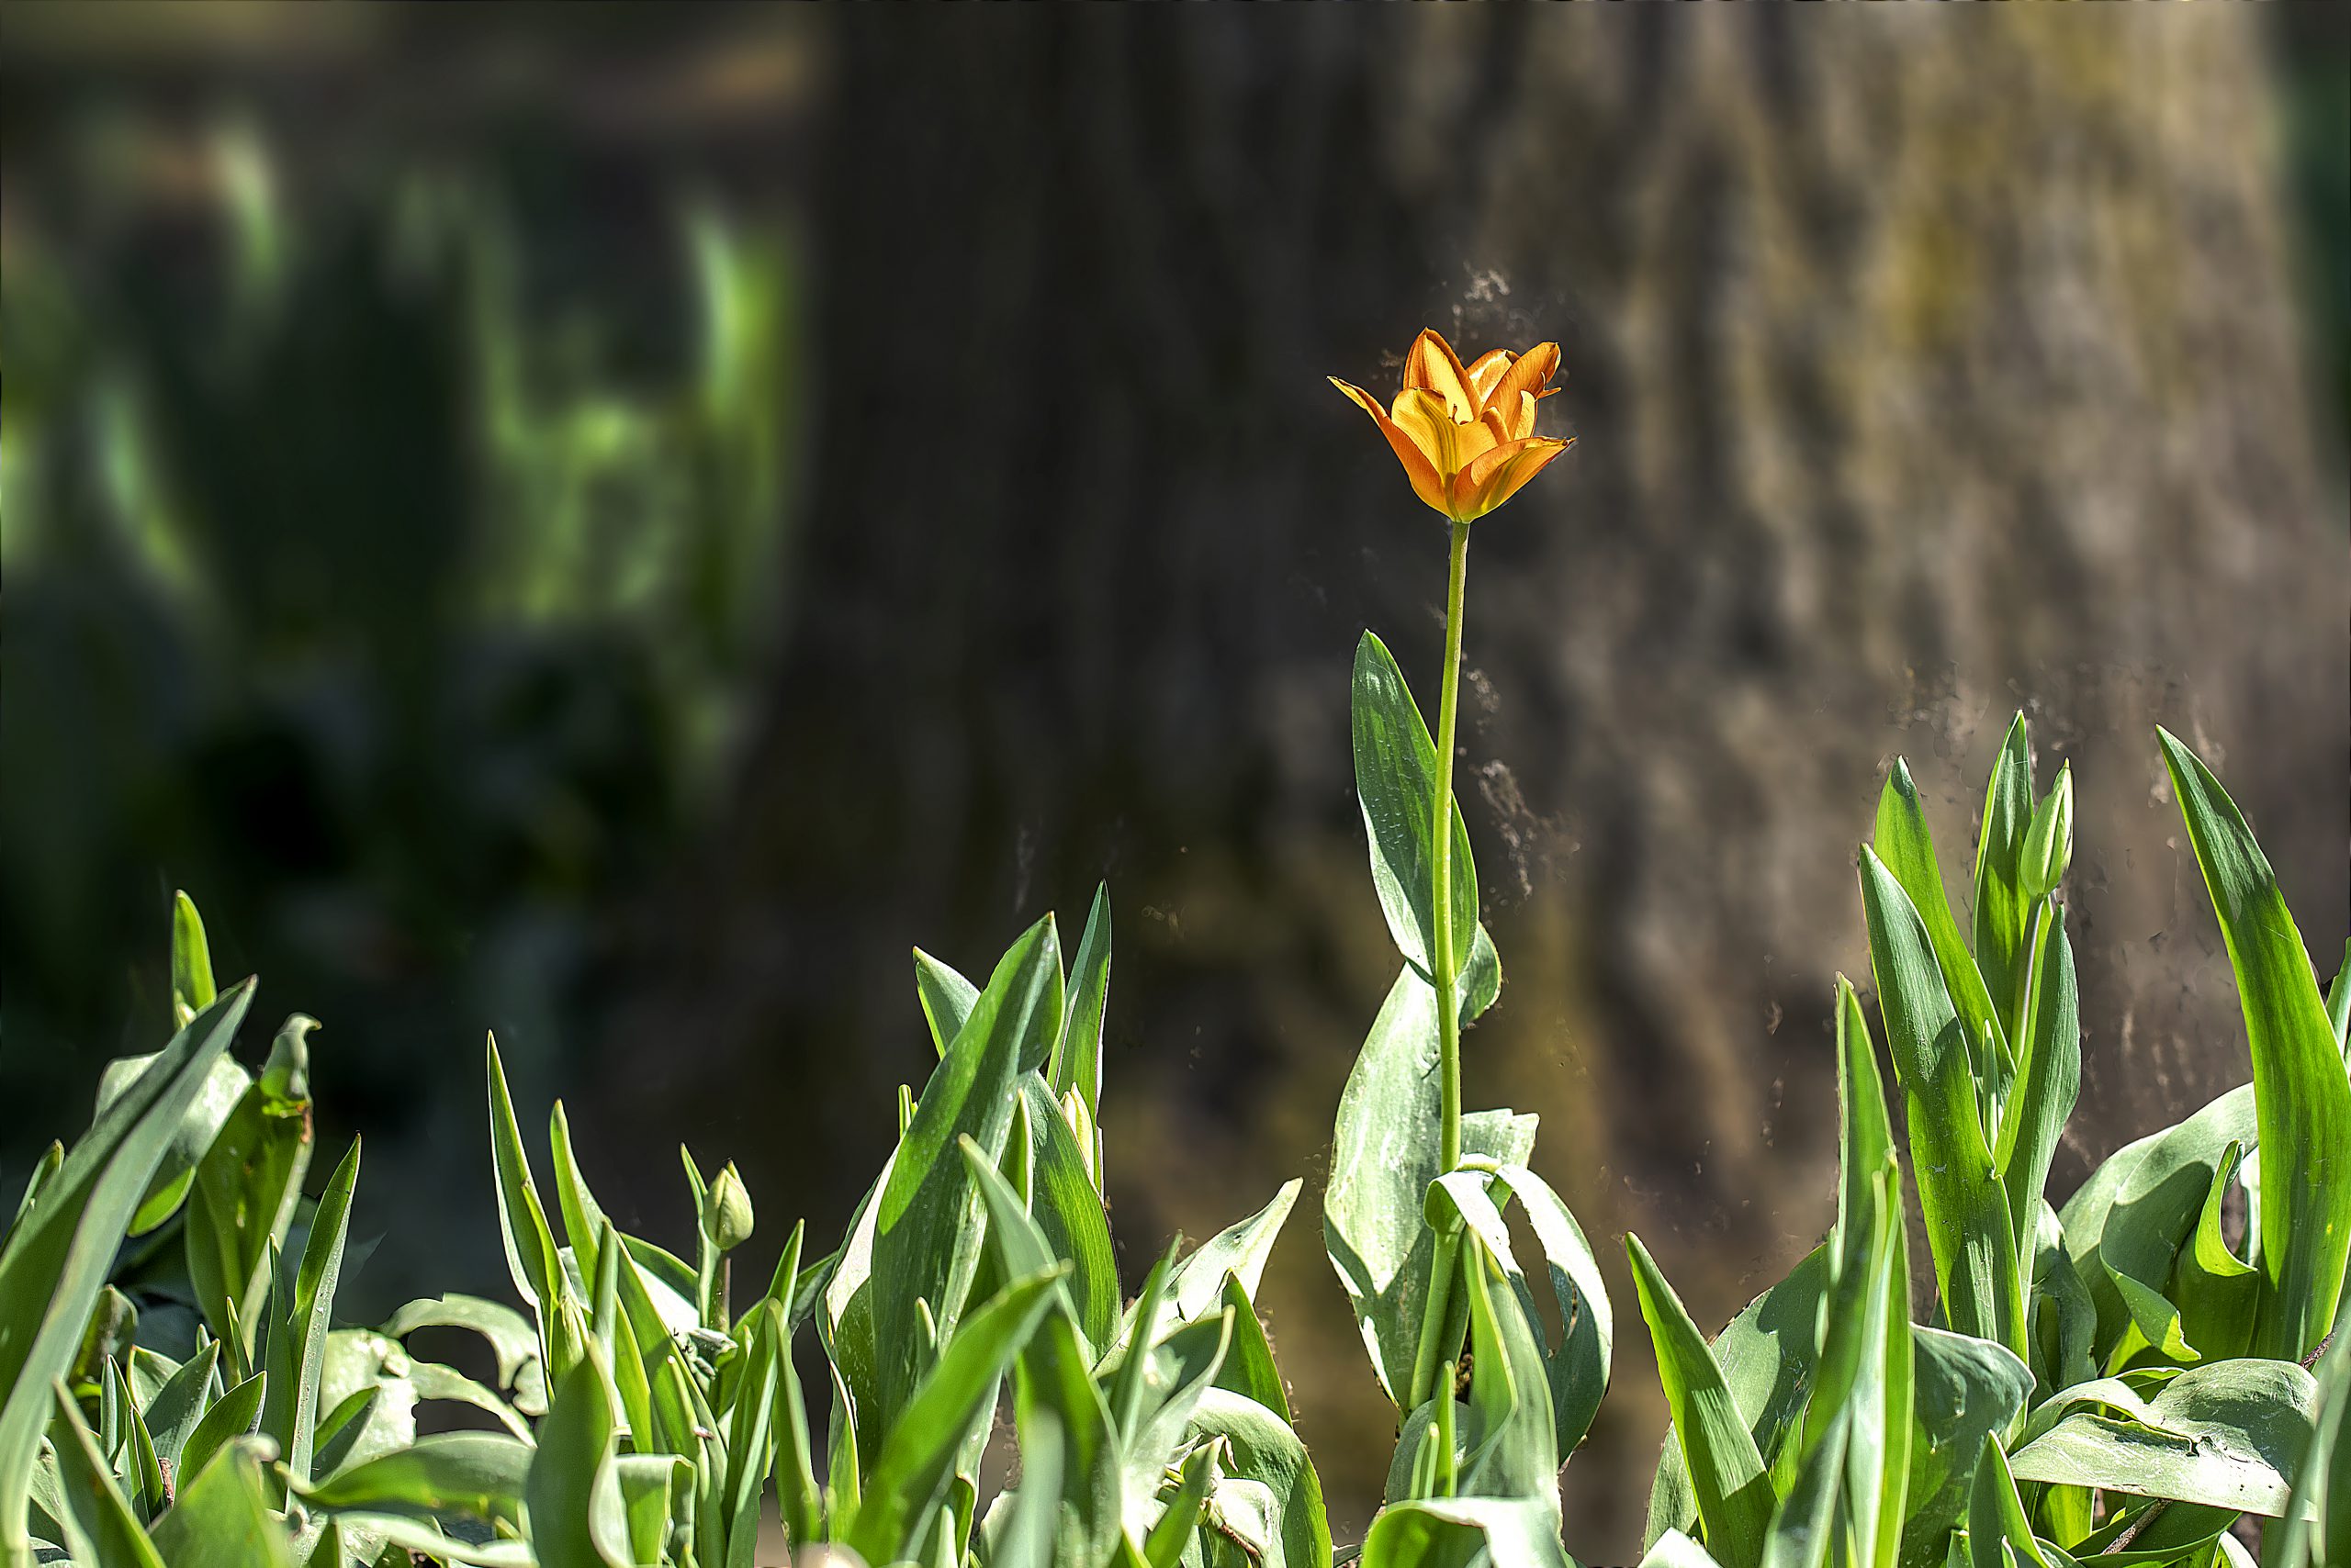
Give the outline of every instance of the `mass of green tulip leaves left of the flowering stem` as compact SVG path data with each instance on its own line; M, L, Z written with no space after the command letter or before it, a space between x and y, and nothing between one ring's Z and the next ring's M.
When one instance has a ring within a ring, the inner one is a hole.
M898 1147L842 1251L809 1260L795 1227L745 1309L734 1166L686 1157L691 1258L621 1232L560 1103L541 1187L491 1044L524 1309L444 1295L339 1328L360 1152L301 1194L313 1025L237 1067L254 985L214 997L181 898L183 1027L108 1070L0 1251L0 1561L748 1568L773 1509L795 1547L870 1563L1328 1563L1253 1305L1298 1182L1121 1300L1096 1126L1107 893L1070 971L1046 917L985 987L919 952L915 980L938 1067L900 1093ZM480 1335L496 1387L411 1352L428 1328ZM985 1497L1006 1387L1018 1481ZM475 1429L418 1434L421 1401L473 1406Z

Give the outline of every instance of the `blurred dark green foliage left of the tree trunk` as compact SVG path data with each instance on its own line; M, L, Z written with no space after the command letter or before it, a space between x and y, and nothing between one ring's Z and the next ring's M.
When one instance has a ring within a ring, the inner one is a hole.
M226 971L317 997L362 1124L407 1114L418 1046L557 1037L600 910L724 778L795 247L665 190L585 228L592 172L531 148L299 200L237 120L99 118L56 162L12 174L0 294L12 1126L153 1037L162 954L134 1020L115 964L172 882L254 943Z

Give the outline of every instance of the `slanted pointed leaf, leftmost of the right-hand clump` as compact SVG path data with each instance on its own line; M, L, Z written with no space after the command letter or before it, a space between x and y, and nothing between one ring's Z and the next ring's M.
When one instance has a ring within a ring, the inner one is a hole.
M1723 1368L1639 1237L1625 1237L1625 1255L1632 1258L1641 1316L1657 1347L1657 1380L1674 1413L1674 1436L1681 1441L1707 1549L1726 1568L1751 1568L1763 1559L1763 1533L1780 1502L1763 1474L1763 1455L1730 1396Z

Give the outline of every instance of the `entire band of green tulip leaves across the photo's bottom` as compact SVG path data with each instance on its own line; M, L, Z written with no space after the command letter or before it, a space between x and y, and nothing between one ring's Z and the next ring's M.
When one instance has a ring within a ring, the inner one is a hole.
M1434 745L1373 637L1354 752L1401 954L1338 1107L1324 1201L1399 1413L1357 1561L1561 1568L1556 1481L1608 1385L1610 1305L1531 1168L1533 1117L1465 1117L1441 1168L1436 1009L1474 1020L1500 961L1455 813L1460 983L1439 1001ZM2245 820L2184 745L2163 736L2163 752L2252 1084L2123 1147L2052 1208L2081 1077L2055 898L2071 783L2034 792L2020 719L1963 933L1897 764L1860 877L1900 1138L1862 997L1838 980L1822 1246L1709 1342L1627 1237L1674 1415L1655 1568L2215 1568L2250 1563L2231 1535L2243 1516L2271 1521L2264 1568L2344 1561L2351 980L2320 999ZM773 1516L792 1549L863 1563L1328 1568L1321 1483L1255 1309L1300 1185L1168 1248L1124 1298L1098 1124L1107 987L1107 893L1070 964L1051 917L985 985L917 952L938 1065L919 1095L900 1091L898 1145L844 1246L806 1258L795 1227L741 1309L731 1253L755 1213L734 1166L686 1154L686 1253L621 1232L560 1103L541 1185L491 1044L522 1309L444 1295L336 1326L360 1150L306 1197L313 1023L289 1018L259 1072L237 1065L254 983L216 992L179 898L179 1032L108 1067L92 1128L52 1145L0 1244L0 1563L748 1568ZM1925 1316L1902 1143L1933 1253ZM409 1342L451 1328L480 1335L491 1380ZM823 1371L813 1403L804 1359ZM461 1422L418 1432L426 1403Z

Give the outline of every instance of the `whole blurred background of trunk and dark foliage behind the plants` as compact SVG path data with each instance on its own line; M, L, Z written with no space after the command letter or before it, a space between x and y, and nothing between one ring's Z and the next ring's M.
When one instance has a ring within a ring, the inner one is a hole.
M1262 1307L1357 1537L1319 1246L1394 976L1347 665L1444 529L1326 374L1563 346L1483 522L1472 1105L1617 1295L1568 1540L1831 1218L1829 987L1907 755L2081 788L2067 1187L2250 1077L2151 741L2351 924L2351 12L0 12L0 1178L162 1039L165 910L308 1011L357 1312L505 1295L482 1030L632 1229L832 1246L971 973L1117 912L1131 1286L1305 1175ZM259 1037L256 1037L259 1046Z

